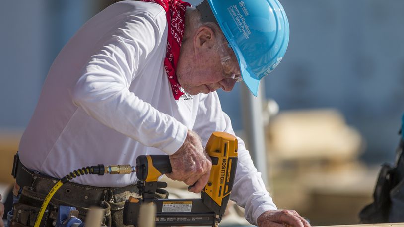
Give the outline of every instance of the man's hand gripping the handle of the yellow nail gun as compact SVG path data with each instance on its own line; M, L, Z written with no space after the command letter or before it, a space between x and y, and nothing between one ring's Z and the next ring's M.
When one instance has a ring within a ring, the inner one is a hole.
M172 172L166 176L192 186L189 191L199 193L207 184L212 162L202 147L201 138L188 130L184 144L170 155Z

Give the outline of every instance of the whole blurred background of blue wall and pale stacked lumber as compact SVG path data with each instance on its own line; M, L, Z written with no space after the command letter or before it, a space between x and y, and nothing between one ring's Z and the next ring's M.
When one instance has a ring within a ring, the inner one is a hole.
M200 0L189 0L196 5ZM112 0L3 0L0 193L47 71L82 24ZM358 223L380 165L392 163L404 112L403 0L280 0L290 41L264 83L268 190L312 225ZM238 83L219 91L241 137Z

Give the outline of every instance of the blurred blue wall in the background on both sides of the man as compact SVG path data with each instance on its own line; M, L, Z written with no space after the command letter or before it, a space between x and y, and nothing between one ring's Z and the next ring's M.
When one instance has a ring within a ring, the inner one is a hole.
M199 0L191 0L195 5ZM98 0L4 0L0 128L25 127L57 53ZM336 108L367 141L364 160L393 160L404 112L403 0L281 0L290 23L282 63L265 80L280 110ZM239 86L219 91L242 129Z

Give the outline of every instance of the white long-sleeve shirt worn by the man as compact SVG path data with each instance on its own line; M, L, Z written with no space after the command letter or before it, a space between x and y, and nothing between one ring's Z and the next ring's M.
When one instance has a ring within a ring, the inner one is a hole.
M171 155L188 129L203 145L214 131L234 134L216 92L174 99L163 63L166 45L166 15L157 4L121 1L91 18L52 64L20 141L21 162L62 178L85 166L133 165L139 155ZM238 141L230 198L255 224L276 206ZM136 175L86 175L73 182L122 187L134 184Z

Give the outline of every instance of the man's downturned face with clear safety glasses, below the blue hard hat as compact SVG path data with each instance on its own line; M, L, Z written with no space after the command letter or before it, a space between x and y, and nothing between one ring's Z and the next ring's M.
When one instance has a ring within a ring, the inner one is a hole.
M208 29L202 29L182 48L178 81L191 95L209 93L221 88L231 91L240 75L240 68L233 50L222 40L217 41ZM184 56L183 56L184 54Z

